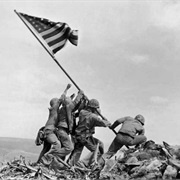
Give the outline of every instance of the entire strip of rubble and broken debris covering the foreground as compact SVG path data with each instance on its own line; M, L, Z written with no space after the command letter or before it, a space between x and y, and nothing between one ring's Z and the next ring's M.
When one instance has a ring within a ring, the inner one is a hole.
M0 179L50 179L50 180L145 180L145 179L180 179L179 149L163 142L158 145L147 141L139 148L121 150L121 155L105 160L101 168L95 157L89 167L79 163L77 166L58 166L57 162L49 166L26 162L20 156L11 162L2 163ZM86 159L87 161L87 159ZM92 159L89 159L92 161Z

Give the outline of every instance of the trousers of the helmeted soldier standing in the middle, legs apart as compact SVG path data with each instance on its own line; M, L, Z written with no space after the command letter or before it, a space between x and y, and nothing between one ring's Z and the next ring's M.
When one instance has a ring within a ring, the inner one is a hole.
M96 150L98 143L99 143L99 156L100 156L104 153L103 142L101 142L97 138L94 138L93 136L83 137L83 138L77 137L76 143L74 145L74 150L72 151L72 153L68 159L68 163L72 166L77 164L77 162L79 161L80 156L82 154L84 146L91 152L94 152ZM85 160L85 161L88 161L88 160ZM84 161L84 163L88 164L85 161Z

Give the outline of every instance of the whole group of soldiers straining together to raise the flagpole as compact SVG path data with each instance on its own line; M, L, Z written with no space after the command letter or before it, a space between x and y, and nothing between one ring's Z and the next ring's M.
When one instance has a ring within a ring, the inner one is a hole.
M49 165L52 161L66 161L69 166L74 166L79 162L84 147L92 153L98 147L98 159L101 160L111 158L123 145L138 147L146 142L142 115L119 118L111 124L100 116L98 100L88 100L82 90L76 97L75 94L67 96L70 87L68 84L60 98L50 100L48 120L36 138L36 145L43 143L37 163ZM120 124L120 130L108 151L104 152L103 142L94 137L95 127L114 130Z

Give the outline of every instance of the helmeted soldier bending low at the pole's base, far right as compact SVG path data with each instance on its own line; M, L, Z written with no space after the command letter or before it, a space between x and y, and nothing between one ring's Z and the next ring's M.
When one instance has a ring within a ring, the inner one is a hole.
M137 115L135 118L132 117L123 117L117 119L110 129L115 129L118 125L122 124L119 132L111 143L108 151L103 154L103 157L106 159L111 158L116 152L121 149L123 145L126 146L138 146L146 142L147 138L144 135L144 123L145 119L142 115Z

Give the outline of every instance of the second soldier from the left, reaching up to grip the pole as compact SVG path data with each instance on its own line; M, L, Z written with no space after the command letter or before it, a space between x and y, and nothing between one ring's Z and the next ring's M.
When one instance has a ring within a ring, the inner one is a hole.
M74 149L73 143L69 137L73 127L72 112L79 104L79 101L83 97L83 91L79 91L75 100L70 97L65 97L62 102L62 107L58 110L58 121L57 121L57 137L60 143L53 144L51 150L44 155L44 159L52 159L55 157L56 160L61 162L65 160L65 157L72 152ZM50 160L48 160L50 161Z

